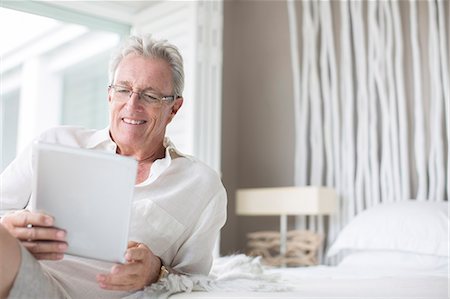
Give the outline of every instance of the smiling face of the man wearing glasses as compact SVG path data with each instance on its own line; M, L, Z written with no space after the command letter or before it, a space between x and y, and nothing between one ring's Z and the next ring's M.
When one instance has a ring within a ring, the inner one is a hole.
M167 62L136 54L125 56L117 67L113 85L135 92L172 96L172 73ZM181 107L182 98L172 102L146 103L133 93L119 101L114 90L109 91L110 132L120 150L142 151L162 144L166 126Z

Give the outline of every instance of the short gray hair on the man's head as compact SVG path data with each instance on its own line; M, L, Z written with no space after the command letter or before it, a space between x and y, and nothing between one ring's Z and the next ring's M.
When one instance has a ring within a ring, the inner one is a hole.
M172 69L172 85L175 96L182 96L184 89L183 58L178 48L167 40L154 39L150 34L130 36L109 61L109 82L114 81L114 74L119 63L128 54L138 54L149 58L159 58L167 61Z

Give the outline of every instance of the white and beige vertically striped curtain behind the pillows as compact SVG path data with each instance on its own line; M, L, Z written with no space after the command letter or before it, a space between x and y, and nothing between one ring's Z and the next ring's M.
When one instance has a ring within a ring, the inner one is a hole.
M448 1L287 0L295 182L334 187L327 232L387 201L448 200ZM307 220L307 221L305 221Z

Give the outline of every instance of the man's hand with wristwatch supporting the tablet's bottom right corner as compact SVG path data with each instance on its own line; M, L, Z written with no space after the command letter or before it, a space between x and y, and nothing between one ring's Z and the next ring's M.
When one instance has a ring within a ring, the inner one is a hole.
M128 242L125 259L125 264L114 265L110 273L97 275L97 283L102 289L136 291L158 279L161 260L146 245Z

